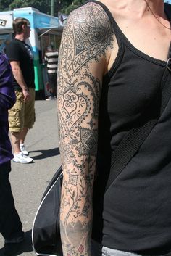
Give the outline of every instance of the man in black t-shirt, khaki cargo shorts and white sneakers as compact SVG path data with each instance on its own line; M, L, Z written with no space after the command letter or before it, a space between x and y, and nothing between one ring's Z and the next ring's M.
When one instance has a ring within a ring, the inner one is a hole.
M14 162L29 163L25 150L25 136L35 122L35 85L33 54L25 43L30 36L30 22L25 18L17 18L13 22L15 37L6 47L13 73L13 86L17 102L9 110L9 131L11 131Z

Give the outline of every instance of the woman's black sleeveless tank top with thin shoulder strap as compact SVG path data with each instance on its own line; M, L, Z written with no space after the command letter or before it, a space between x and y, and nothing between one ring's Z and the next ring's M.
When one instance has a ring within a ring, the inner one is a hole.
M171 86L171 72L166 62L135 49L109 9L94 2L107 12L119 52L104 77L99 107L93 239L112 249L164 255L171 252L171 100L146 141L105 194L104 181L109 175L112 151L125 134L158 115L162 87L164 83ZM170 4L165 4L165 11L171 12Z

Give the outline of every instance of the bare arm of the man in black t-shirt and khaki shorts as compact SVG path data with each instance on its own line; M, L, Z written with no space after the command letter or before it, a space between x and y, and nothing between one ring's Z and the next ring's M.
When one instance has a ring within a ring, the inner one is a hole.
M19 86L22 88L22 94L24 96L24 100L29 98L29 91L28 86L25 83L25 80L22 75L22 70L20 69L20 62L11 61L10 62L12 67L12 73L14 75L15 80L19 84Z

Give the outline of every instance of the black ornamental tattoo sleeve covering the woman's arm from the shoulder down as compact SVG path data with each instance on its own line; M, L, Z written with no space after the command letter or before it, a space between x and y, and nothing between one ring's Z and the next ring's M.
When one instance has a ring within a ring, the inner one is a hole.
M90 256L101 81L113 31L88 3L70 14L59 51L57 108L64 170L60 226L64 256Z

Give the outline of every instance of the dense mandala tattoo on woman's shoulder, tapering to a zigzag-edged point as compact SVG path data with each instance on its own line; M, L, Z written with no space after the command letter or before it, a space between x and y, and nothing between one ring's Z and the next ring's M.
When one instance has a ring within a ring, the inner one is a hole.
M101 7L86 4L72 12L63 31L61 48L68 77L80 72L92 59L99 62L107 46L112 46L112 36L111 24Z

